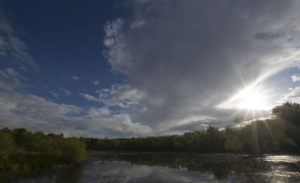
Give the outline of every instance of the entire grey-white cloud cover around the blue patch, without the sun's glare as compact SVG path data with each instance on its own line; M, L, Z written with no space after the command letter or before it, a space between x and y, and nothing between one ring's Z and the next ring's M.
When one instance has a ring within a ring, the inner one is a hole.
M270 76L299 66L299 4L284 0L131 1L132 16L109 20L103 40L103 53L112 70L125 75L128 83L79 93L101 106L81 108L21 93L20 73L12 68L0 70L0 126L111 137L226 126L247 111L235 113L235 109L216 106L242 88L256 88ZM3 17L0 55L30 63L25 43ZM294 88L285 99L299 101L298 90ZM53 95L71 92L62 88Z

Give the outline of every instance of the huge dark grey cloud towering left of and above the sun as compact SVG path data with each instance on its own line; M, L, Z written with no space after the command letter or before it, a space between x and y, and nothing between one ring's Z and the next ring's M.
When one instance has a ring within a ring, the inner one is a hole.
M131 116L157 130L176 128L181 119L188 119L186 125L203 122L205 115L207 121L228 120L233 111L215 106L237 89L295 65L299 5L283 0L133 3L131 18L104 27L104 53L112 69L143 94L136 103L146 110L130 111Z

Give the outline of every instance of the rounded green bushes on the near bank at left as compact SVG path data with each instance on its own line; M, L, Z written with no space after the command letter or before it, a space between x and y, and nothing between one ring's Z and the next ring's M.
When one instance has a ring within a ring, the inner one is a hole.
M86 145L79 139L4 128L0 130L0 179L76 164L85 158L85 153Z

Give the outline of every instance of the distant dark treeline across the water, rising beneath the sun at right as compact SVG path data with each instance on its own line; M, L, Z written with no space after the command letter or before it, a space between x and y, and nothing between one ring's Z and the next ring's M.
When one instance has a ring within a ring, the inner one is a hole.
M300 153L300 105L284 103L272 110L274 119L242 128L209 127L184 135L129 139L81 138L88 150L197 153Z

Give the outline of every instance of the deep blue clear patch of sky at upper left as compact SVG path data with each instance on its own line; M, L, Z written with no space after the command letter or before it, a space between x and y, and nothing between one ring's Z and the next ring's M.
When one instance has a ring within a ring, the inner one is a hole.
M90 91L97 88L91 85L94 81L108 87L110 83L122 80L110 72L102 54L103 26L117 12L115 3L6 1L4 4L11 12L9 18L16 20L14 24L21 27L20 32L16 32L39 68L24 72L25 76L34 78L31 80L33 94L56 102L82 104L85 101L75 96L53 98L51 93L59 95L57 90L60 88L68 88L75 93L84 89ZM80 80L72 81L72 75Z

